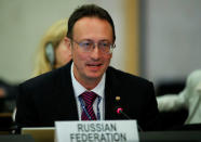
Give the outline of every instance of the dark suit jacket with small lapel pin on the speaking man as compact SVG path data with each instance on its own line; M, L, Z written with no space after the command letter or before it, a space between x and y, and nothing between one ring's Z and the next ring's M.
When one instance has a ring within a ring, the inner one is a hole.
M51 127L55 120L78 120L70 76L71 63L19 85L16 124L19 127ZM120 101L116 101L120 96ZM151 82L108 67L105 85L105 119L126 119L116 113L121 106L144 130L153 130L158 107Z

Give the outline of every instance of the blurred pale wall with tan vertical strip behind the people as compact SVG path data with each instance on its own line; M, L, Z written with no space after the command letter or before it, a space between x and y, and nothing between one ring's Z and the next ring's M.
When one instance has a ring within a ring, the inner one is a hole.
M103 7L115 21L112 66L156 87L201 68L201 0L0 0L0 78L30 78L44 31L83 3Z

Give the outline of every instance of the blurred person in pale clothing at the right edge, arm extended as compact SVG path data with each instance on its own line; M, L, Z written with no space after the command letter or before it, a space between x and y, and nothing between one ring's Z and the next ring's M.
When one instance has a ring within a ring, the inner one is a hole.
M193 70L187 78L185 89L178 94L157 96L160 112L188 111L185 125L201 124L201 69Z

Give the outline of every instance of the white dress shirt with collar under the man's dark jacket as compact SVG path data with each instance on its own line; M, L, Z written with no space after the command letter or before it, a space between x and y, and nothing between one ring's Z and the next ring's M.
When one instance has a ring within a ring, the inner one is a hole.
M82 113L82 107L81 107L81 103L79 101L79 95L82 94L85 91L93 91L95 92L98 96L100 96L100 103L99 103L99 114L100 114L100 120L105 119L105 98L104 98L104 90L105 90L105 80L106 80L106 75L104 74L102 77L102 80L98 82L98 85L92 89L92 90L88 90L85 89L80 82L78 82L78 80L75 78L73 76L73 62L71 64L71 79L72 79L72 88L73 88L73 92L75 92L75 98L76 98L76 102L77 102L77 106L78 106L78 116L79 116L79 120L81 120L81 113ZM95 99L94 104L93 104L93 109L95 115L97 116L97 102L98 102L98 98Z

